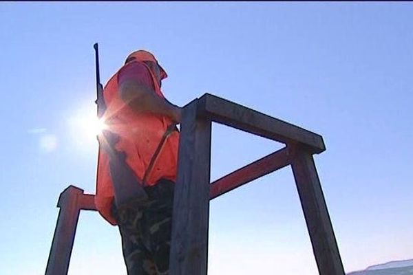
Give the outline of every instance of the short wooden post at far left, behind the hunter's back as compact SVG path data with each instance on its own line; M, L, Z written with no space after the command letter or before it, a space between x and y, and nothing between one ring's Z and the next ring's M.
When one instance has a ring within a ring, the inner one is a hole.
M67 274L74 234L76 233L79 212L81 211L78 206L78 197L81 195L83 195L83 190L74 186L69 186L61 192L57 203L57 207L61 209L54 230L45 275Z

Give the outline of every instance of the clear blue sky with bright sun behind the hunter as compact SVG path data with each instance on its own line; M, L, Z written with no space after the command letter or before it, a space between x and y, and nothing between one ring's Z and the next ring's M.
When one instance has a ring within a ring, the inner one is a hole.
M413 258L413 3L0 3L0 270L44 274L70 184L94 193L103 82L151 50L163 91L209 92L323 135L315 155L346 272ZM213 125L212 179L281 148ZM82 212L69 274L126 274L117 229ZM209 274L317 274L293 174L211 201Z

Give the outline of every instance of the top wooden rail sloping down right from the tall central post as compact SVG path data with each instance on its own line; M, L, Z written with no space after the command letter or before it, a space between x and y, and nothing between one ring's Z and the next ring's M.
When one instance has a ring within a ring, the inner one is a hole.
M214 122L284 144L304 144L312 153L326 150L323 137L316 133L211 94L204 94L199 100L200 112Z

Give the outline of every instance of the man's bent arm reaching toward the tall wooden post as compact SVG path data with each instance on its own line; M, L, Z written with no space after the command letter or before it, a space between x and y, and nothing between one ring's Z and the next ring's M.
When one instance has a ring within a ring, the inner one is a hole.
M174 122L180 122L181 108L158 96L151 87L134 79L128 79L119 84L120 97L134 111L165 115Z

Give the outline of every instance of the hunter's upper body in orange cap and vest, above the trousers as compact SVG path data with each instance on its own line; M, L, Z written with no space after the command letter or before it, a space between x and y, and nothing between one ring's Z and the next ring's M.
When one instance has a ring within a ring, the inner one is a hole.
M149 79L138 75L142 69L149 72ZM116 149L126 153L126 162L140 182L167 127L180 120L180 109L167 102L160 90L160 81L164 78L167 74L156 58L147 51L139 50L129 54L125 65L109 79L103 90L107 106L103 119L109 130L118 135ZM134 94L134 88L145 87L149 83L153 91ZM160 106L151 107L151 101ZM148 175L147 185L156 184L162 177L176 181L178 139L178 132L167 138ZM103 136L100 136L100 142L105 142ZM100 214L116 225L111 214L113 200L108 155L100 149L95 204Z

